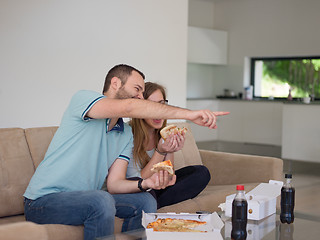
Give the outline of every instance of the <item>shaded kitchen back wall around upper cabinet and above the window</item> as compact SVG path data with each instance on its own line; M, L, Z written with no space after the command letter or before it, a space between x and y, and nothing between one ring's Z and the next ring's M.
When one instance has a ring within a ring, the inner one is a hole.
M202 86L215 86L211 97L222 94L224 88L234 90L236 93L243 91L243 68L246 56L320 55L320 31L318 31L320 1L189 1L189 13L193 14L192 18L189 18L189 25L197 27L213 25L214 29L228 32L227 66L203 68L204 75L198 74ZM199 8L206 14L208 14L207 9L213 9L213 17L204 18ZM206 78L209 74L213 77ZM195 95L210 97L205 88L202 90L203 92L193 92L192 97Z

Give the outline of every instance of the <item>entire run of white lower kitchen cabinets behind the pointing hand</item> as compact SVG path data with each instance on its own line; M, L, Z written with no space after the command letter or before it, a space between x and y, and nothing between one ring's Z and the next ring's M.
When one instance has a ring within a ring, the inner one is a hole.
M282 103L239 100L188 100L189 109L228 111L219 116L217 129L191 123L196 141L227 141L281 146Z

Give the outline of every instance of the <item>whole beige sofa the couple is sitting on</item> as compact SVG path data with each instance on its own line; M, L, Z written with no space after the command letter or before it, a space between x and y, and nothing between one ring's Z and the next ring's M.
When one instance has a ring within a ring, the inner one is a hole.
M178 123L186 126L187 123ZM187 126L188 127L188 126ZM26 222L23 193L42 161L57 127L0 129L0 239L83 239L82 226L39 225ZM190 129L190 128L189 128ZM259 182L282 180L283 162L273 157L199 150L189 131L182 151L175 154L175 168L204 164L211 181L196 198L159 209L159 212L217 211L225 197L243 183L249 191ZM122 221L116 218L115 231Z

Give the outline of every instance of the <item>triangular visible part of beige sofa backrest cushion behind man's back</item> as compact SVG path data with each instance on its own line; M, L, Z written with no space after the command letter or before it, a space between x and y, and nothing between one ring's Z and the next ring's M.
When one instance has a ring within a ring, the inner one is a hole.
M43 160L49 144L58 127L39 127L25 129L26 138L29 144L31 157L35 168Z

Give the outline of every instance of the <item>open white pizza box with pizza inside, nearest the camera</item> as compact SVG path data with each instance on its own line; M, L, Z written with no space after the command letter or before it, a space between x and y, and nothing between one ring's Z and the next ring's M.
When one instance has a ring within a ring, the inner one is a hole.
M152 228L146 228L150 222L158 218L177 218L206 221L207 224L197 227L196 229L206 232L154 232ZM142 225L146 229L147 239L151 240L194 240L194 239L211 239L222 240L221 229L224 226L219 215L212 214L192 214L192 213L142 213Z

